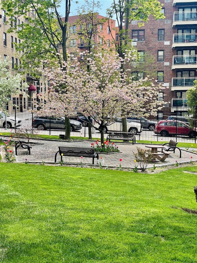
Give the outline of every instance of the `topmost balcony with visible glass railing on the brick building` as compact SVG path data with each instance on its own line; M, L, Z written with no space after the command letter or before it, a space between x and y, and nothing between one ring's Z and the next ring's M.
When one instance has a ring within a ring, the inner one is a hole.
M196 25L197 12L174 12L172 27L177 25Z

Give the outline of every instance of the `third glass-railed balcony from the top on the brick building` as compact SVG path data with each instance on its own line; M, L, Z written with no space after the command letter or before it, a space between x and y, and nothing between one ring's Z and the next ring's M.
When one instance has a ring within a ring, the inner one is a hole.
M197 68L197 55L173 56L172 69Z

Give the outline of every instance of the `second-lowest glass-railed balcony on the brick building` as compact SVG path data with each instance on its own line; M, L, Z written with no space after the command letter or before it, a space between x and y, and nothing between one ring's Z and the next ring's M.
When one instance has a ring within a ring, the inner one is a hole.
M197 80L197 77L172 78L171 91L188 90L194 86L194 80Z

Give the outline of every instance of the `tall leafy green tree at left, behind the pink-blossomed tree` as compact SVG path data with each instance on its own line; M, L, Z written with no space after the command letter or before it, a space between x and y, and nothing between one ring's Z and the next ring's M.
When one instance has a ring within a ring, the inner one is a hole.
M32 76L39 77L38 68L58 63L62 70L67 61L67 26L71 0L65 0L65 18L58 13L60 0L2 0L2 9L10 17L10 32L15 31L21 43L17 50L23 51L21 66ZM16 19L25 23L11 27ZM70 121L65 117L65 138L70 139Z

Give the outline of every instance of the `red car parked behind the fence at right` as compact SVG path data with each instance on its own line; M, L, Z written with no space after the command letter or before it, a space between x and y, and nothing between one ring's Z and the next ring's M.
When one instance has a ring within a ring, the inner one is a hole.
M161 136L168 135L185 135L189 138L195 138L197 134L197 128L190 128L190 126L184 121L159 121L155 126L155 134L160 134Z

